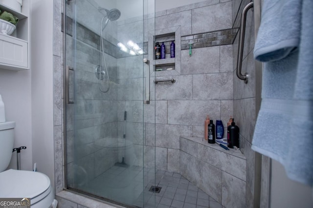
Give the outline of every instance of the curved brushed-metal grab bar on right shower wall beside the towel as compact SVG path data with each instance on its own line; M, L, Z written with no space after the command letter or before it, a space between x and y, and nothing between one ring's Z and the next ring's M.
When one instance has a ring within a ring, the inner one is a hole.
M245 44L245 33L246 33L246 13L249 9L253 7L253 2L250 2L246 5L241 15L241 24L240 24L240 33L239 33L239 46L238 46L238 56L237 56L237 77L241 80L244 80L245 83L248 83L248 73L242 75L242 62L243 62L243 52Z

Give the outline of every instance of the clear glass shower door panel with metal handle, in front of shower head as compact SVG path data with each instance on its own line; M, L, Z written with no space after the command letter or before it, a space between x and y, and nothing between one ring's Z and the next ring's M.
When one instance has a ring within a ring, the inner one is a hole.
M67 188L131 207L144 207L155 177L155 161L144 162L147 2L66 5Z

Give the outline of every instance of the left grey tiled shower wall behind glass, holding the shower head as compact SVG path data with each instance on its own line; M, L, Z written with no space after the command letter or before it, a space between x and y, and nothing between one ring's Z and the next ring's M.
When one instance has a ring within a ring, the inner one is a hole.
M73 19L75 9L80 14L76 16L80 18L76 22ZM100 64L100 37L93 32L99 30L102 14L89 1L78 1L75 9L72 4L67 5L66 65L74 68L74 74L70 74L69 79L75 79L72 85L74 95L69 95L75 96L75 103L67 104L66 115L67 184L72 184L70 187L77 184L73 178L79 183L87 182L87 178L92 180L118 161L116 149L108 147L117 145L116 58L112 56L114 54L106 53L111 87L108 93L102 93L94 73L95 67ZM86 24L84 14L87 17L90 13L94 13L98 21ZM112 37L116 33L116 25L111 23L109 27L110 33L106 33L106 36ZM105 42L106 48L109 44ZM103 70L103 57L101 59ZM102 89L107 89L106 82L101 83Z

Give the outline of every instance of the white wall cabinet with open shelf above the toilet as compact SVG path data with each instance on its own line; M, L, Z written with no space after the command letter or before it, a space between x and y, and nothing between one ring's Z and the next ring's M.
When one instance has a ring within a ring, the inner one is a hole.
M0 34L0 69L26 70L30 65L30 18L29 1L23 1L22 12L0 3L0 10L19 18L11 35Z

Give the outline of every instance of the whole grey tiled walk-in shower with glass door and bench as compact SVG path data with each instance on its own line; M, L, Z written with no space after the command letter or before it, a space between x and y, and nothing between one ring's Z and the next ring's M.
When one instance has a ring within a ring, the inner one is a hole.
M67 1L67 190L124 207L245 207L249 141L224 150L203 139L207 114L224 125L230 115L248 120L233 90L234 1L193 2L156 12L154 0ZM252 53L243 54L246 64Z

